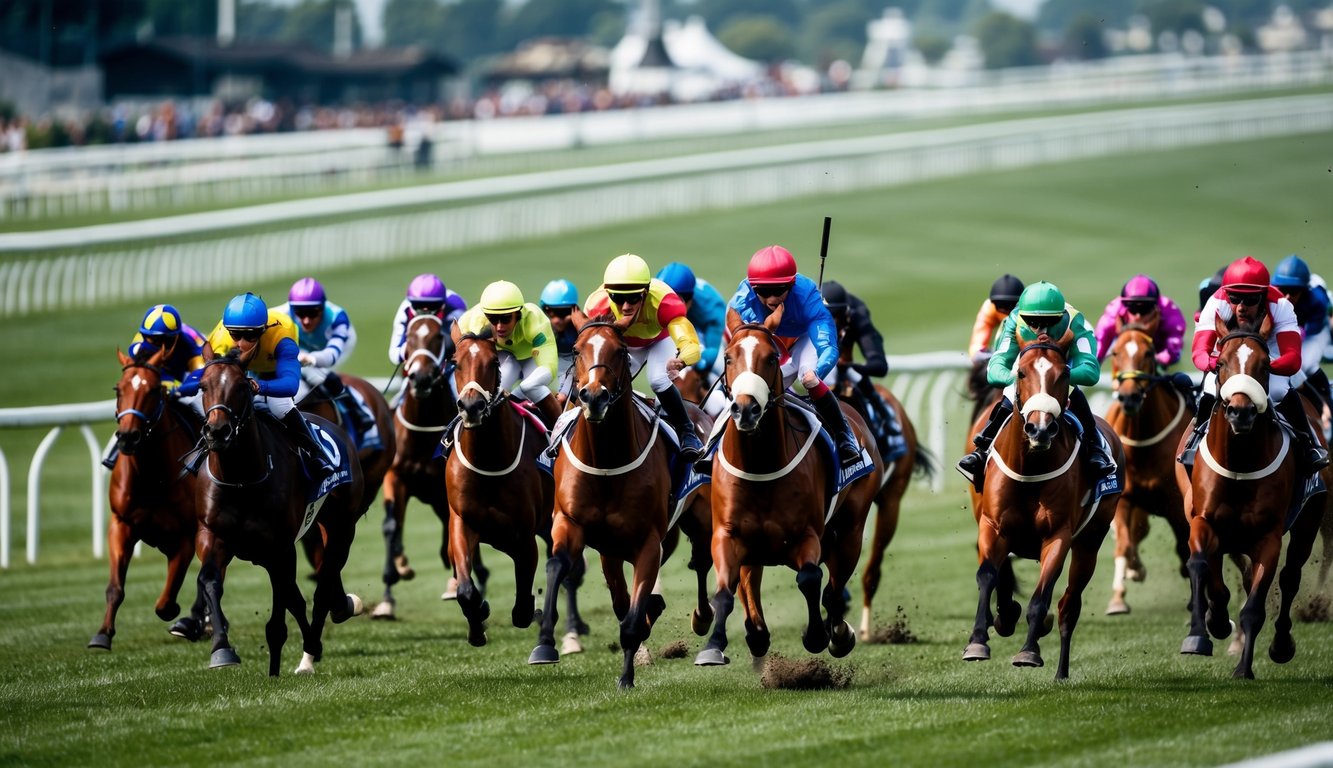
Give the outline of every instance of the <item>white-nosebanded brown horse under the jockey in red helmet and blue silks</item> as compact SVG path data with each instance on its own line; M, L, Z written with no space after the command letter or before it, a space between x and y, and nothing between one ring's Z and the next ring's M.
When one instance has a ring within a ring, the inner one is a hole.
M694 657L697 665L726 664L726 619L741 593L745 608L745 643L754 660L768 653L769 629L760 601L765 565L796 571L796 584L805 597L808 623L802 643L810 653L825 648L836 657L856 647L856 633L846 623L844 588L861 556L866 512L880 489L881 464L874 437L849 405L842 413L874 468L852 481L836 497L829 463L836 457L818 448L818 431L793 413L784 401L781 347L773 328L778 309L765 324L746 324L728 312L730 343L725 351L725 383L732 417L724 427L713 455L713 633ZM832 501L830 501L832 499ZM821 564L828 564L822 591L826 617L820 615Z

